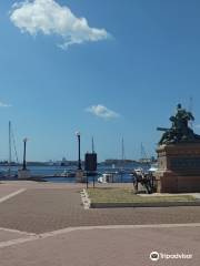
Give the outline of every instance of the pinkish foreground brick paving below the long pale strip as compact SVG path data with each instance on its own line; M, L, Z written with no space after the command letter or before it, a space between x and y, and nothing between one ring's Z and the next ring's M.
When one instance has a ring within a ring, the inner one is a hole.
M0 248L1 266L199 266L200 227L76 231ZM192 259L151 262L151 252Z

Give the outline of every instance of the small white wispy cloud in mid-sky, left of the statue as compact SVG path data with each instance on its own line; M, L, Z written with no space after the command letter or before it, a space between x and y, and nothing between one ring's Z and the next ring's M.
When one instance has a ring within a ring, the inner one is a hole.
M120 116L120 114L101 104L92 105L88 108L86 111L103 119L116 119Z

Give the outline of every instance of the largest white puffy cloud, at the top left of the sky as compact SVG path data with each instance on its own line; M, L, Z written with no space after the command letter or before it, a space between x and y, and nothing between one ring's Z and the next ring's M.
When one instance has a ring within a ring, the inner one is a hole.
M110 37L104 29L90 28L86 18L77 18L68 7L62 7L54 0L16 2L10 20L22 32L31 35L61 35L63 43L59 47L62 49L74 43L94 42Z

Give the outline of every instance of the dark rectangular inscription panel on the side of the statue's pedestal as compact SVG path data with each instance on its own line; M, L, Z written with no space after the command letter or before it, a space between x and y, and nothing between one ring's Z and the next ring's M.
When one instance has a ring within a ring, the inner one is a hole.
M200 171L200 157L171 158L172 171Z

